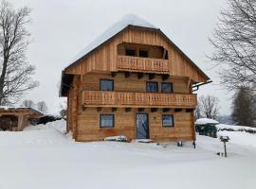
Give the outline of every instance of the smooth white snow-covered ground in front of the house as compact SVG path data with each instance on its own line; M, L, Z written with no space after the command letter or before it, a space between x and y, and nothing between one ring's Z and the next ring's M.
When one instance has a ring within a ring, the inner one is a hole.
M60 131L61 130L61 131ZM229 157L219 139L191 143L76 143L64 121L0 132L0 189L182 188L255 189L256 134L229 135Z

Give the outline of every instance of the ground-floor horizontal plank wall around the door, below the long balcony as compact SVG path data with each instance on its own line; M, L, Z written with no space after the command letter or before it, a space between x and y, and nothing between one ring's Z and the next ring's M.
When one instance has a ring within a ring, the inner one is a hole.
M100 128L101 113L115 114L114 128ZM132 109L131 112L125 112L124 109L112 112L110 108L103 108L101 112L98 112L97 108L88 108L78 116L76 141L98 141L103 140L107 136L115 135L125 135L128 140L136 139L136 113L138 113L137 109ZM194 139L192 112L150 112L150 109L145 109L144 113L149 115L150 139L155 142ZM162 114L174 115L174 127L162 127Z

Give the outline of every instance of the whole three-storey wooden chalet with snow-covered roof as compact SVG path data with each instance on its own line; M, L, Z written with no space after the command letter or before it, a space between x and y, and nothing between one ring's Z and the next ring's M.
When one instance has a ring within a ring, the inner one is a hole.
M66 128L76 141L195 140L192 91L208 82L159 28L126 16L64 68Z

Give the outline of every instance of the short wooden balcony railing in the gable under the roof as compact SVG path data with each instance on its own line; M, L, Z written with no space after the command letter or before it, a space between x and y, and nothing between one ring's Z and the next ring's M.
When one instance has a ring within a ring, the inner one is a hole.
M140 57L118 56L118 70L128 72L146 72L169 74L168 60Z

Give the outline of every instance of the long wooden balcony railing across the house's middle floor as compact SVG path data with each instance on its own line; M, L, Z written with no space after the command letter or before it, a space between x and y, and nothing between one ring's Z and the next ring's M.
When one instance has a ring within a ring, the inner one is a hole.
M83 91L85 107L192 108L196 94L157 94L135 92Z

